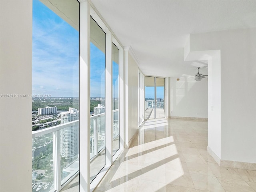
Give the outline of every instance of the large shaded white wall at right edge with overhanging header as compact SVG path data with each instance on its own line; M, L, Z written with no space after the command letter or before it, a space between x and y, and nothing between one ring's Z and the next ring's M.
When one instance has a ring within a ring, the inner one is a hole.
M220 50L221 160L256 163L256 29L190 35L203 50Z

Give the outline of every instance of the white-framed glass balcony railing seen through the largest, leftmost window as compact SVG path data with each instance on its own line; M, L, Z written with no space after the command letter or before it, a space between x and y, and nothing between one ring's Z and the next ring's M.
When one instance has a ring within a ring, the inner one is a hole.
M60 190L79 170L79 120L32 132L32 192Z

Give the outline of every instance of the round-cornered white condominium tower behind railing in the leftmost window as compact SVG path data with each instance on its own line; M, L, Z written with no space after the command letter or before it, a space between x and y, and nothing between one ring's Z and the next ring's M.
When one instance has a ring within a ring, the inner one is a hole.
M67 112L60 113L60 124L78 120L78 114L75 108L68 108ZM78 126L60 130L60 154L67 159L78 155Z

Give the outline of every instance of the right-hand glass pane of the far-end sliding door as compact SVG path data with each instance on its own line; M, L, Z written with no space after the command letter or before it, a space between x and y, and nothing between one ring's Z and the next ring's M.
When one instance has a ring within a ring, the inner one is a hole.
M156 78L156 118L165 117L164 78Z

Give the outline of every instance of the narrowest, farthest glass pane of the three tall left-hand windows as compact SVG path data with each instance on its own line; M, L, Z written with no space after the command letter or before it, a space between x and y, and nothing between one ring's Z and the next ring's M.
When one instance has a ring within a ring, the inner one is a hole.
M113 104L113 126L112 126L112 154L119 149L119 49L112 44L112 104Z

